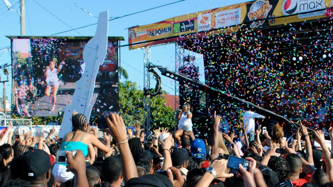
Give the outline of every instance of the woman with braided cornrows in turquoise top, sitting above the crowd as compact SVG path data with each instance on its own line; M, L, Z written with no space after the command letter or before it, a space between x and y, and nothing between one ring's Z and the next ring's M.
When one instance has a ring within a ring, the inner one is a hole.
M87 118L85 115L78 112L73 112L72 115L72 132L65 134L60 150L81 150L85 156L88 155L88 145L91 143L104 152L111 151L110 144L104 145L96 136L87 133ZM57 182L64 183L74 177L72 172L66 172L66 164L55 164L53 175Z

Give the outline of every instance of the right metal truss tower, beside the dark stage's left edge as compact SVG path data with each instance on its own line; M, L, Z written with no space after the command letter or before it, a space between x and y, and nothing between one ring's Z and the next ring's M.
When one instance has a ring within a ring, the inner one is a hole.
M182 46L176 42L175 43L175 51L174 51L174 71L176 73L178 73L179 68L184 64L184 58L185 56L185 50L184 48L182 48ZM178 106L179 106L179 99L177 100L177 96L179 98L179 82L178 81L174 81L174 111L176 112L178 110ZM177 115L175 114L174 116L174 132L176 131L176 126L178 124L177 121Z

